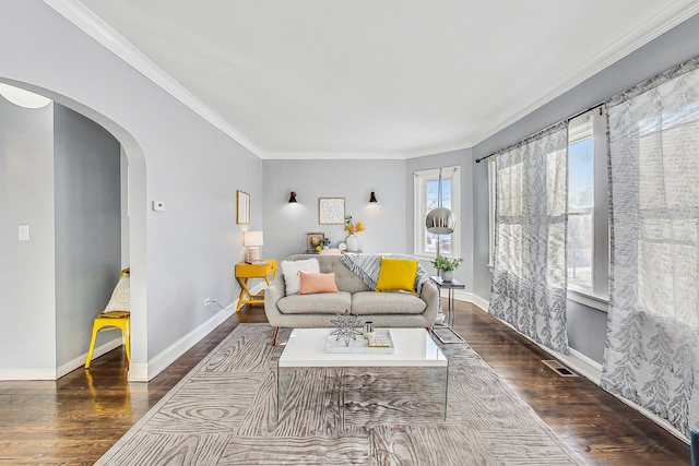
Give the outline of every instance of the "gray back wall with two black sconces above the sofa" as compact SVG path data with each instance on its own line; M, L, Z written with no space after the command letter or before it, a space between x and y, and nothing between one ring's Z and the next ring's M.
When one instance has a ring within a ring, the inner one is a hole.
M264 160L263 214L252 208L251 230L264 219L262 255L283 259L305 250L306 234L322 231L332 247L344 241L344 225L318 223L318 198L345 198L345 213L364 222L357 235L365 252L405 252L405 160ZM289 204L292 191L296 204ZM376 191L378 203L369 203ZM253 200L254 201L254 200ZM411 224L412 225L412 224Z

